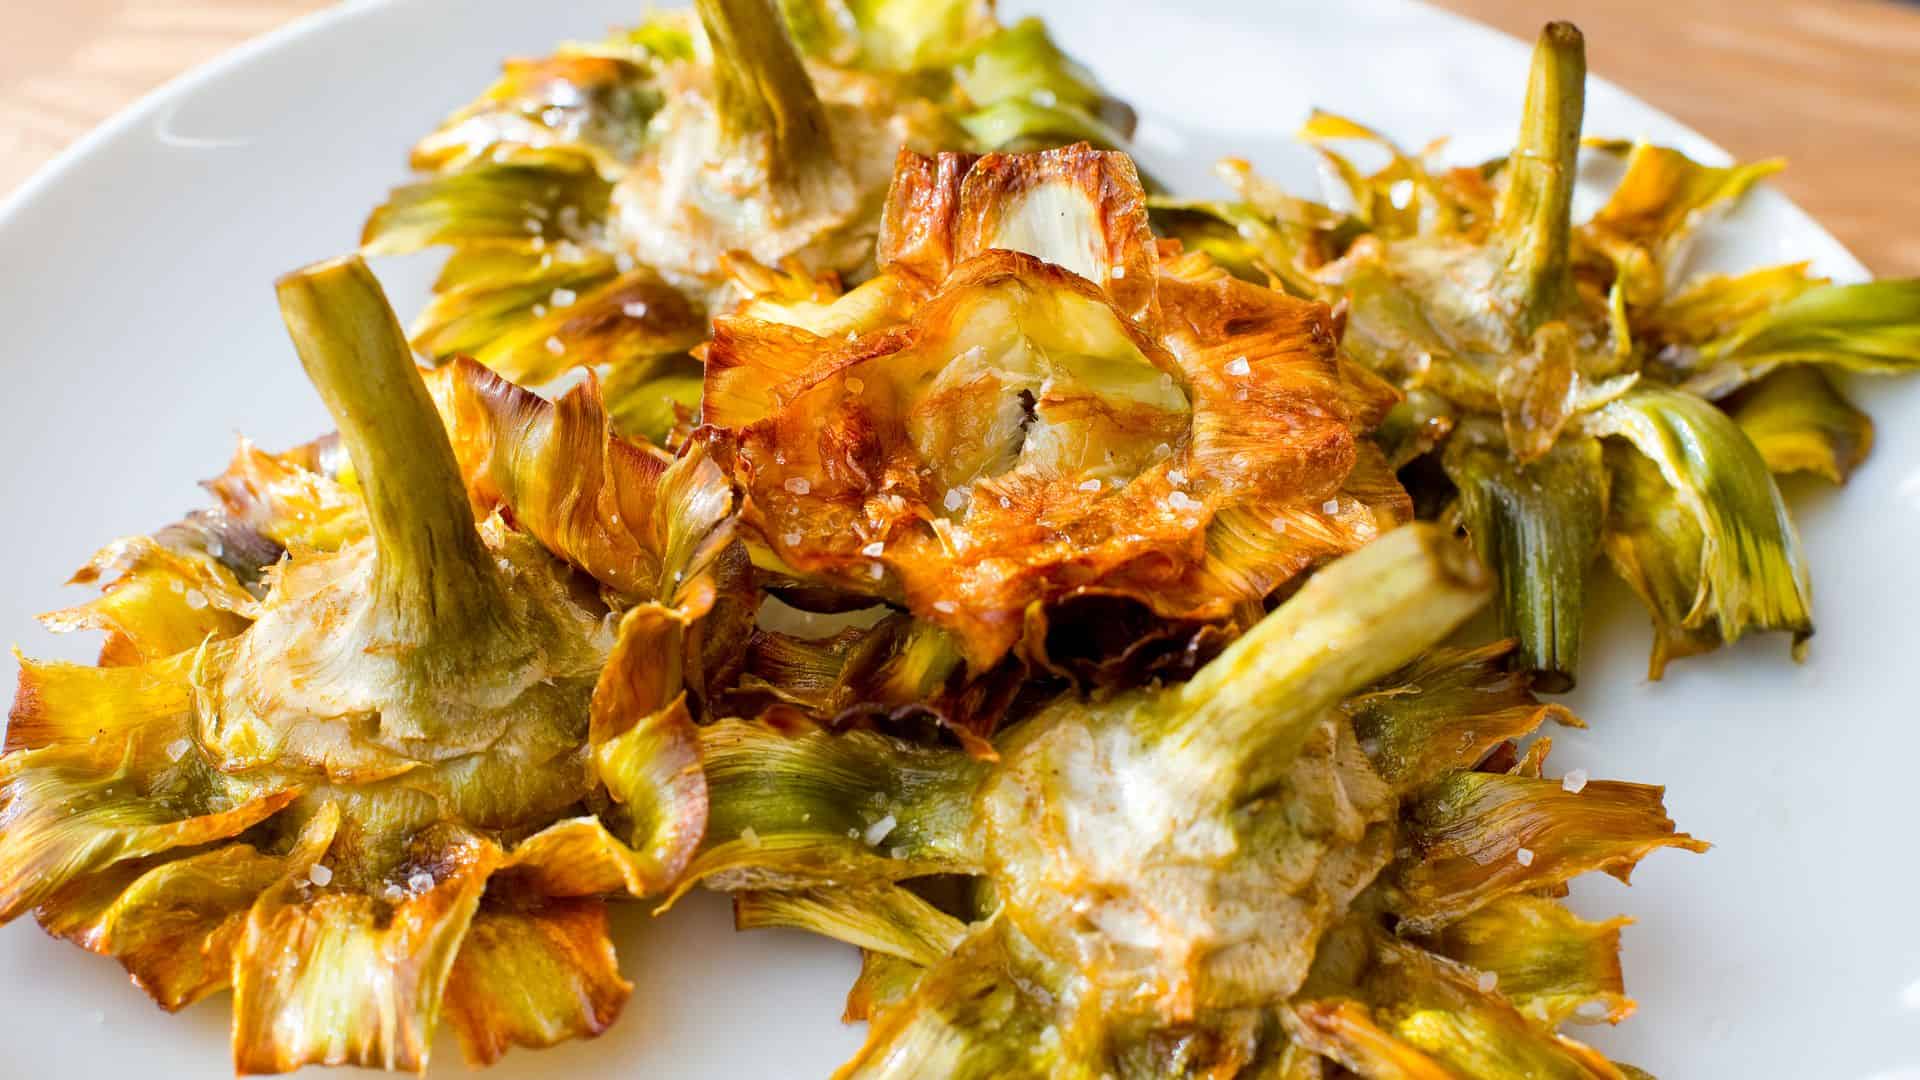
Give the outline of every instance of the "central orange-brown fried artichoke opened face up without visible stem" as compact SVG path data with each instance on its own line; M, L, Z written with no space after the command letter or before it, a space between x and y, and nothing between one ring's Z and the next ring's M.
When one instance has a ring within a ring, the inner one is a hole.
M701 421L756 565L902 607L933 663L1066 673L1087 605L1233 632L1411 517L1365 438L1398 394L1325 306L1156 244L1123 154L902 154L877 261L749 265Z

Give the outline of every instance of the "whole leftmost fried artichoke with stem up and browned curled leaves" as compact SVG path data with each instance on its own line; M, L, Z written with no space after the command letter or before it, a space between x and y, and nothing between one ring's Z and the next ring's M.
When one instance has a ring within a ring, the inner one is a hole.
M48 617L108 644L21 663L0 919L167 1009L230 988L240 1072L422 1070L442 1015L474 1061L595 1034L630 992L601 897L662 892L705 828L685 698L628 705L714 609L732 490L591 388L463 363L430 394L357 259L280 304L340 436L242 446L221 509Z

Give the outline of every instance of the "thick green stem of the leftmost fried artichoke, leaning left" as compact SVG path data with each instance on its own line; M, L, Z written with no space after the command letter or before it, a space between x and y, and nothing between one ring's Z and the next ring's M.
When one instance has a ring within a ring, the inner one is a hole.
M276 290L365 494L390 632L426 644L440 628L474 644L505 611L505 586L386 292L359 256L294 271Z

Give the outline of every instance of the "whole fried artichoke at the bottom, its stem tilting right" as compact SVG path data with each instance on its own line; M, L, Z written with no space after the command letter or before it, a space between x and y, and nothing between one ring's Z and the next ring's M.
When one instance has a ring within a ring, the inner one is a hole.
M1190 682L1058 698L996 761L722 721L682 888L866 951L849 1078L1626 1076L1555 1034L1630 1013L1619 922L1548 896L1703 846L1657 788L1542 776L1546 740L1507 765L1571 717L1505 644L1427 653L1486 594L1394 530Z

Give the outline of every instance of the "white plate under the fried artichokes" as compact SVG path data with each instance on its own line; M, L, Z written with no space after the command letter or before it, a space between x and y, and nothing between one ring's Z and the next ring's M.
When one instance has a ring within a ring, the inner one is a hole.
M104 540L205 500L236 430L269 446L326 427L280 331L275 275L348 250L405 177L405 148L484 86L507 54L545 52L634 19L634 0L348 4L198 71L84 140L0 211L6 477L0 628L35 655L92 642L31 621L71 601L60 582ZM1010 4L1008 15L1029 4ZM1240 154L1313 183L1288 135L1309 106L1411 144L1453 133L1473 152L1511 138L1526 48L1398 0L1164 0L1098 17L1037 4L1056 35L1140 106L1142 158L1190 192ZM1738 86L1724 86L1738 94ZM1594 81L1588 131L1718 152ZM1713 229L1703 265L1811 258L1859 263L1761 190ZM432 259L384 263L411 311ZM1680 824L1716 847L1663 851L1632 890L1582 882L1580 907L1632 913L1628 986L1642 1013L1597 1032L1611 1055L1668 1078L1920 1076L1920 934L1908 822L1914 601L1920 561L1920 384L1862 386L1880 421L1843 492L1789 484L1818 586L1803 667L1745 642L1644 678L1647 628L1620 588L1597 590L1588 732L1557 732L1555 765L1668 784ZM511 1055L534 1076L826 1076L858 1043L839 1022L852 949L799 934L733 934L726 905L628 909L620 959L639 984L597 1042ZM119 967L31 920L0 932L4 1076L173 1080L227 1070L225 997L165 1017ZM442 1043L436 1074L461 1074Z

